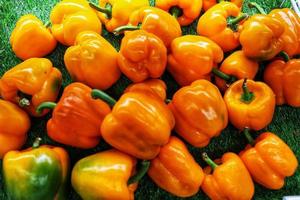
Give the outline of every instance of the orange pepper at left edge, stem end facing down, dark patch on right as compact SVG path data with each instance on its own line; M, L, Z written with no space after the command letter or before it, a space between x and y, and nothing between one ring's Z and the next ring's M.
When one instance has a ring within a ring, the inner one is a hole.
M46 58L30 58L8 70L0 79L4 100L18 103L32 116L44 101L55 101L62 83L61 72Z

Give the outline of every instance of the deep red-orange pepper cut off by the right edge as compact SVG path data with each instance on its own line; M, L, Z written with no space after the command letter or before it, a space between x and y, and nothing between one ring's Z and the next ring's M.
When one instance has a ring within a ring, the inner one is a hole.
M276 104L300 107L300 59L275 60L264 71L264 81L276 94Z

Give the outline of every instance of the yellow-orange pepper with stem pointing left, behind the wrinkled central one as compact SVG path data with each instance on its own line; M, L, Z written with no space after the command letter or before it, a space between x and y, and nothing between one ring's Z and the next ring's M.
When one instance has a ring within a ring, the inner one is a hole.
M159 37L169 47L171 42L181 36L181 27L177 20L164 10L155 7L143 7L134 11L129 25L114 30L116 35L129 30L145 30Z

